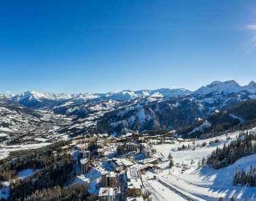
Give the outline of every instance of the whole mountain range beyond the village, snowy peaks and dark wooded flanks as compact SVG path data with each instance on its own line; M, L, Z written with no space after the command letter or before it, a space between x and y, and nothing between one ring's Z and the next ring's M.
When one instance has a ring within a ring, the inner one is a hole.
M10 106L26 108L30 116L47 113L66 116L70 124L60 126L55 133L69 135L125 135L159 129L179 129L202 119L256 99L256 83L240 86L233 80L215 81L196 91L185 89L124 90L119 93L55 94L27 91L2 94L0 99ZM0 102L0 107L4 107ZM6 104L5 104L6 107ZM45 119L45 118L44 118ZM1 124L1 127L7 126Z

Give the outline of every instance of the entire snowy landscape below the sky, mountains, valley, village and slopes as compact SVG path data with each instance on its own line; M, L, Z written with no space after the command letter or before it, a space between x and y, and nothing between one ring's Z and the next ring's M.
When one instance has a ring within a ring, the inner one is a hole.
M255 94L0 94L0 199L256 200Z

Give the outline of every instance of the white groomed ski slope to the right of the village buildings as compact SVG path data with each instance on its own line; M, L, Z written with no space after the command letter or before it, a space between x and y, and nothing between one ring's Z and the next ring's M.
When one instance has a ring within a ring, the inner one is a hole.
M186 200L182 196L189 196L195 200L218 200L219 197L229 200L232 196L235 200L256 200L256 188L232 184L236 169L247 171L251 165L256 166L256 155L243 157L234 164L218 170L197 165L198 161L210 155L217 146L221 147L224 143L230 143L238 135L239 132L229 133L229 139L227 135L218 136L216 138L222 139L223 142L211 145L208 144L209 141L215 138L199 140L195 143L195 146L199 144L195 149L192 142L155 145L156 155L159 157L163 155L167 160L168 154L171 153L174 163L179 163L179 165L169 169L169 161L165 160L159 164L163 168L162 172L148 171L143 176L146 187L153 191L154 200L170 200L170 198L171 200ZM203 142L206 142L207 146L200 146ZM190 144L192 148L177 150L182 144L186 146ZM182 196L173 189L177 189Z

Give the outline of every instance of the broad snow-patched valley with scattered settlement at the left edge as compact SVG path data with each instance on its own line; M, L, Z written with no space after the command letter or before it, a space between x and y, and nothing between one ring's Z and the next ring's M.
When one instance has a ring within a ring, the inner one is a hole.
M72 125L72 118L48 110L33 110L0 95L0 160L16 145L16 150L46 146L66 136L59 128ZM55 132L58 129L58 132Z

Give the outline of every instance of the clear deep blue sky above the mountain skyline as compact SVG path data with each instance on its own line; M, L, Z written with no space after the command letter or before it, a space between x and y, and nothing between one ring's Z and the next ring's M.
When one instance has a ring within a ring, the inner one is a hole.
M255 1L0 1L0 93L256 81Z

